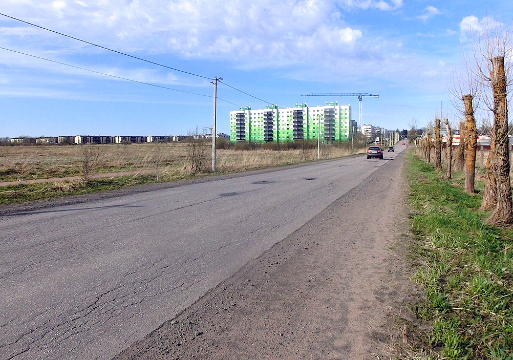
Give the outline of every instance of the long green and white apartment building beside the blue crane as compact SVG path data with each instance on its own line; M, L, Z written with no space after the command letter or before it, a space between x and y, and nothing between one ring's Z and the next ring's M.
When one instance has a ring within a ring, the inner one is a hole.
M317 140L330 143L350 138L351 106L326 103L324 106L278 109L268 105L265 109L251 110L241 107L230 111L231 142L286 142Z

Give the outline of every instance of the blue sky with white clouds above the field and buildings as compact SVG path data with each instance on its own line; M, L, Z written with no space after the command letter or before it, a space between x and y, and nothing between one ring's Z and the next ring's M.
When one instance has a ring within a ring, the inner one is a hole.
M508 21L513 2L424 0L2 0L0 13L104 47L223 81L229 111L356 97L365 124L426 124L462 68L469 31ZM211 126L208 79L157 67L0 16L0 47L163 87L122 81L0 49L0 136L176 135ZM232 104L230 104L232 103ZM236 104L237 106L233 105ZM452 121L456 114L451 115Z

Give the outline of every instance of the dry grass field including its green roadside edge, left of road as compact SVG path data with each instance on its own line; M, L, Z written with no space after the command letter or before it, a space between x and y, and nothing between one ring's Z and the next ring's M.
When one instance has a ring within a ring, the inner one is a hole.
M191 171L189 144L92 145L100 150L97 167L89 175L115 176L73 181L25 184L22 181L82 176L85 146L0 146L0 182L16 182L0 187L0 205L32 202L57 196L80 195L135 185L163 183L211 172L211 147L203 152L201 172ZM322 146L321 159L350 155L343 146ZM359 149L355 152L363 152ZM216 151L216 174L298 164L317 159L317 149L308 150L226 150ZM157 171L158 170L158 171ZM127 173L130 171L131 173ZM136 172L133 174L133 172Z

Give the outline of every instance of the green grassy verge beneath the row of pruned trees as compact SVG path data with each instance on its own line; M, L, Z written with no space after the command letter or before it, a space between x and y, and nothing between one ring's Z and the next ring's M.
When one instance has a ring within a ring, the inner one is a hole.
M513 359L513 229L484 224L481 196L463 191L463 176L443 181L430 164L407 155L412 231L421 259L413 281L430 324L432 358Z

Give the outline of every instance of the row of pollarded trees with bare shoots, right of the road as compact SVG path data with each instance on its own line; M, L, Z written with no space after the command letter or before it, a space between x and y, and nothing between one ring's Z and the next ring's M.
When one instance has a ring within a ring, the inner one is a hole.
M417 141L417 156L431 162L434 148L434 167L442 172L441 121L447 133L446 171L444 178L451 178L452 169L463 164L465 191L475 193L476 152L478 130L475 112L489 111L493 124L485 129L491 138L485 166L484 191L481 208L491 210L489 224L513 224L513 203L510 182L508 98L512 81L513 33L500 22L489 21L480 34L472 35L470 54L464 55L464 71L456 73L450 89L451 102L462 118L459 124L460 145L452 157L452 134L449 121L441 112L419 137L416 119L410 124L410 139Z

